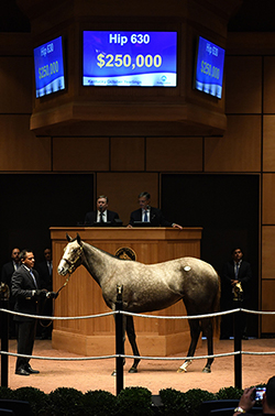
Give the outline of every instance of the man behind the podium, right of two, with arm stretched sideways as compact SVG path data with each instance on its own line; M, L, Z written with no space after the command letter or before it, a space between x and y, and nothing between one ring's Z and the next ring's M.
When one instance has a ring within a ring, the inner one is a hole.
M166 220L158 208L150 206L151 195L146 191L139 195L140 209L131 212L128 228L134 227L135 221L150 222L151 227L173 227L183 229L182 226Z

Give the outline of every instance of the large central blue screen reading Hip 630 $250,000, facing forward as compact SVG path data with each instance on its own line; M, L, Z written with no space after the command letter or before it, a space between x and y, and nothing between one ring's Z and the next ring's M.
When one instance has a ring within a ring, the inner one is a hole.
M176 87L177 32L84 31L82 85Z

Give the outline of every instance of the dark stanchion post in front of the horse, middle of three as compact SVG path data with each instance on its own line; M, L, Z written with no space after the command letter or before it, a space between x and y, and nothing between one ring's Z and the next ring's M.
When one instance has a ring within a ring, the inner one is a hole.
M117 302L116 302L116 310L123 310L122 307L122 292L123 286L117 286ZM116 354L123 354L123 315L117 314L116 315ZM116 365L117 365L117 395L123 390L123 358L117 357Z

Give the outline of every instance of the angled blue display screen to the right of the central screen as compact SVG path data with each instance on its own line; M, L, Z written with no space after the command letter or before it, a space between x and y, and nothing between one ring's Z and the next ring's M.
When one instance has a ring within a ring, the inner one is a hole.
M199 36L194 87L221 98L226 51Z

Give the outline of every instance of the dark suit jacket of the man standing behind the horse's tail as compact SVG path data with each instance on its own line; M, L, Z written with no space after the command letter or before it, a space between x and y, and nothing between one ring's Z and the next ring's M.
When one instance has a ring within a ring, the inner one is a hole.
M226 263L222 271L221 276L221 289L222 289L222 297L224 298L232 298L232 286L231 280L234 280L234 262L231 260L230 262ZM242 261L241 266L239 269L238 280L241 282L242 289L243 289L243 299L248 300L250 296L249 291L249 282L252 278L252 271L250 263Z

